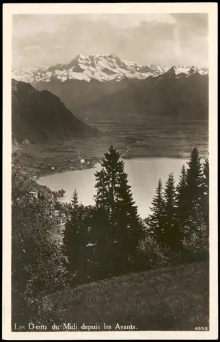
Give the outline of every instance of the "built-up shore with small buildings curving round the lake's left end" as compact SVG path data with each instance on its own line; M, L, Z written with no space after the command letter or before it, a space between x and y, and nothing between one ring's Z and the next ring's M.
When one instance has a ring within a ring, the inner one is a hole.
M49 214L51 217L55 215L59 220L60 227L64 227L70 209L70 203L59 202L60 198L66 196L66 190L59 189L54 191L45 185L38 184L38 179L49 174L94 168L99 161L100 157L85 157L79 152L77 158L66 153L64 157L56 156L51 163L51 158L45 158L35 153L33 146L29 144L28 140L25 140L23 144L18 146L12 146L12 166L16 165L23 174L31 175L33 180L30 192L31 197L42 201L46 200L53 204Z

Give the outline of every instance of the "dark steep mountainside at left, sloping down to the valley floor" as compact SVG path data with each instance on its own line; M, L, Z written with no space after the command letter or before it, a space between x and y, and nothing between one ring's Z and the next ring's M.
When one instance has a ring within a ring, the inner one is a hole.
M46 90L12 79L12 138L33 143L68 137L91 137L98 131L81 122L60 99Z

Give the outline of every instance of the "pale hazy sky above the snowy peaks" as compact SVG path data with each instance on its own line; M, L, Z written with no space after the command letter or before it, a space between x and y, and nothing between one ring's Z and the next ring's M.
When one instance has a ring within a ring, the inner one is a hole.
M206 14L16 14L14 68L113 53L147 64L208 66Z

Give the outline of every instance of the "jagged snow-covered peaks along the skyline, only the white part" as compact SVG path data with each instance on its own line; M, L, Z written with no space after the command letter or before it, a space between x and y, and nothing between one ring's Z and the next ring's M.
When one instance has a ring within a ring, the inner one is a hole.
M123 79L146 79L156 77L173 70L176 77L180 73L191 75L199 73L208 74L207 68L196 68L195 66L158 66L152 64L128 62L120 60L117 55L77 55L68 64L57 64L50 67L32 67L23 69L12 69L12 78L27 83L39 83L50 81L67 81L78 79L90 82L97 81L122 81Z

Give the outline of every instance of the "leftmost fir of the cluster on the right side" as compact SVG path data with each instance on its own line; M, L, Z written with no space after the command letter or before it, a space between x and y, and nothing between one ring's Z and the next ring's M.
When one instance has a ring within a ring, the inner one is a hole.
M164 201L163 201L163 185L159 179L156 187L156 195L152 200L152 207L150 207L152 214L149 216L150 229L159 244L163 243L164 233Z

